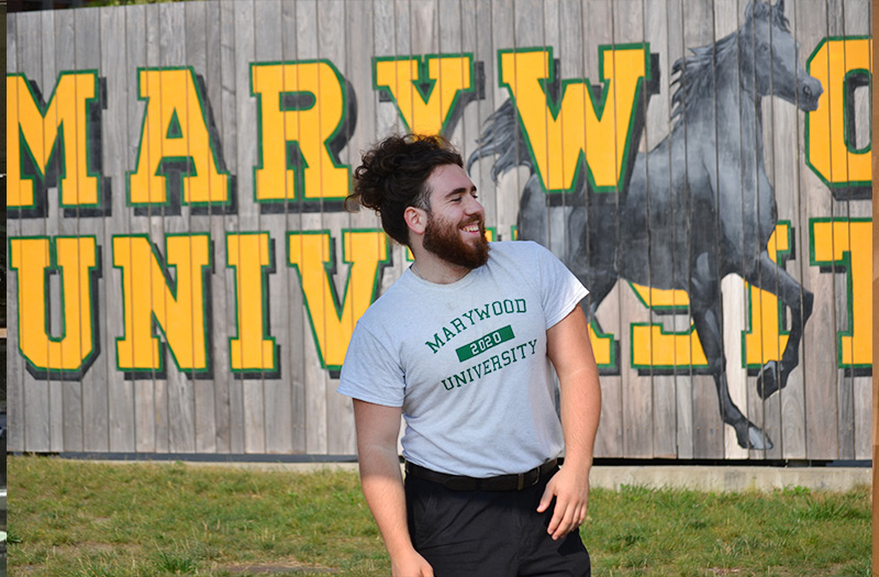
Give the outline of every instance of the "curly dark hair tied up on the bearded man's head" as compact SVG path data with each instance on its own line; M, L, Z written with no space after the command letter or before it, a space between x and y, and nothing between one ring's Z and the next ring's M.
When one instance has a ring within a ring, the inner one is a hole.
M388 236L409 245L409 228L403 220L408 207L430 212L427 178L437 166L464 167L460 154L443 136L407 134L388 136L363 155L354 171L354 192L345 207L358 202L381 217Z

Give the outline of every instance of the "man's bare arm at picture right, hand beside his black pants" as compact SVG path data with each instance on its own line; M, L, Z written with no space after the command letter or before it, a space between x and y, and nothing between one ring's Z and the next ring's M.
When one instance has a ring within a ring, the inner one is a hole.
M546 354L558 374L565 465L547 484L537 511L546 511L555 497L548 533L558 540L586 519L601 387L586 315L579 306L546 331Z

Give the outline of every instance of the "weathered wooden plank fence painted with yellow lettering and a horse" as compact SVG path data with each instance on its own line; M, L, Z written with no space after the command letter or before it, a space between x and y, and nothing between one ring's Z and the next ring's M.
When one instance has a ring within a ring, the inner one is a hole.
M10 15L9 448L354 454L338 368L409 263L342 199L419 131L590 285L597 456L869 458L871 7L787 4Z

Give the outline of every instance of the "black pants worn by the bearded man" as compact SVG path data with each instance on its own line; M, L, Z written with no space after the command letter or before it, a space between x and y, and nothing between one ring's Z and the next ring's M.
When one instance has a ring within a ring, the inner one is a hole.
M409 533L436 577L589 576L578 531L553 541L550 507L537 504L552 475L522 491L453 491L405 478Z

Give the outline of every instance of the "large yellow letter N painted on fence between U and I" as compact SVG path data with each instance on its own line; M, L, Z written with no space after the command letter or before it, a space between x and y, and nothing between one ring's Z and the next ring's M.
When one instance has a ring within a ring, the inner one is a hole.
M113 237L113 267L122 277L125 330L124 336L116 339L119 369L133 378L166 375L164 351L154 334L157 326L180 371L209 377L210 236L169 234L165 248L167 260L163 262L146 235Z

